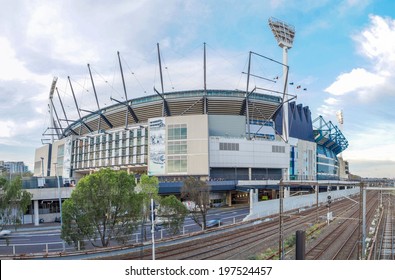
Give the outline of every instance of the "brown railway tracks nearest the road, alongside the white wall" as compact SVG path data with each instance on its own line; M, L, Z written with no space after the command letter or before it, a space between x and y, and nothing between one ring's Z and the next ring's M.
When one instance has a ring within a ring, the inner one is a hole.
M333 204L333 210L346 211L349 209L347 200L337 201ZM284 213L284 233L291 236L296 230L306 229L316 222L317 215L324 216L326 207L311 208L301 213ZM156 259L244 259L278 242L278 217L259 224L244 225L238 228L221 228L210 232L198 239L183 242L181 244L157 247ZM144 253L134 252L117 259L150 259L151 249Z

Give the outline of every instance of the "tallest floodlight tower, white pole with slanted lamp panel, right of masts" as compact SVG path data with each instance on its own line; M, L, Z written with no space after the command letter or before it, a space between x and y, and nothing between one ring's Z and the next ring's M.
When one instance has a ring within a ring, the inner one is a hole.
M289 138L289 120L288 120L288 50L292 48L295 37L295 27L276 18L269 18L269 26L277 40L280 48L283 49L283 139L288 143Z

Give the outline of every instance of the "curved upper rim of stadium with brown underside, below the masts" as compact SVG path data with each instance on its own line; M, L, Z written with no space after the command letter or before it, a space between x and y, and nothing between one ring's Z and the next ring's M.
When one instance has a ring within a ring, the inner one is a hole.
M245 91L191 90L118 101L74 121L64 129L62 137L126 128L155 117L199 115L205 111L209 115L246 115L246 100ZM250 118L267 120L273 117L281 98L254 92L249 94L248 102Z

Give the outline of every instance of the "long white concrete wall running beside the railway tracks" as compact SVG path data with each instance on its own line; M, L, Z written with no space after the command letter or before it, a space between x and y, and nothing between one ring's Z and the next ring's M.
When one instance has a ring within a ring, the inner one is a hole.
M318 203L325 203L327 196L330 194L332 200L344 198L345 196L351 196L359 193L359 188L352 188L340 191L331 191L319 193ZM284 198L284 212L293 209L312 207L317 203L316 194L307 194L301 196L293 196ZM253 203L250 205L250 214L244 218L245 221L266 217L273 214L278 214L280 211L280 200L272 199Z

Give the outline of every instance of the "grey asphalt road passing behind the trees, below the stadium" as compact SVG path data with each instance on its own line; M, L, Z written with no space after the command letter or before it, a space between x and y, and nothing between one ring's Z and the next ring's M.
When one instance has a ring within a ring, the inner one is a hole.
M249 213L248 205L238 207L213 208L207 215L207 220L220 219L222 224L231 224L241 221ZM182 233L191 233L201 230L195 222L187 217L184 222ZM131 243L140 242L141 228L132 235ZM150 226L147 226L147 238L150 240ZM155 238L161 239L167 236L165 230L155 233ZM114 244L115 245L115 244ZM92 247L91 247L92 248ZM13 232L8 238L0 239L1 255L21 255L30 253L74 251L73 246L62 242L60 238L60 225L40 225L40 227L21 227Z

